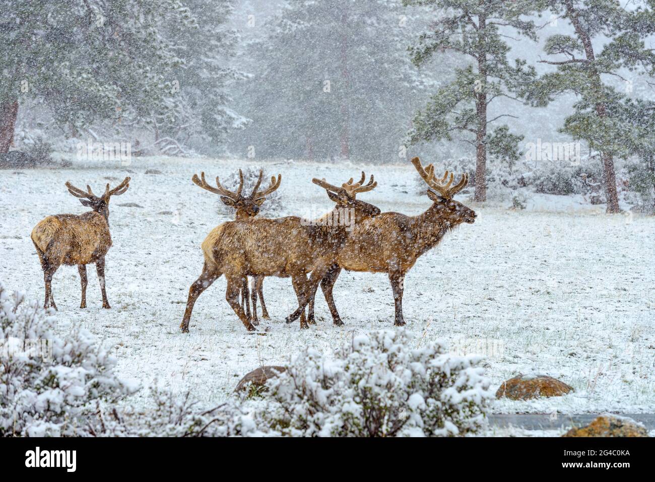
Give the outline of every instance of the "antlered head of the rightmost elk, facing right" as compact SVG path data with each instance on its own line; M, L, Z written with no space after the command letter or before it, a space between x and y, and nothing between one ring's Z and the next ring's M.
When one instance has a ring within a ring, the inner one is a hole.
M453 199L453 196L464 189L464 186L468 183L468 174L462 174L460 181L452 186L454 177L452 172L446 171L441 179L437 179L432 164L428 164L426 168L423 168L421 159L418 157L413 158L411 163L414 164L419 175L430 187L427 191L428 197L434 202L433 208L441 219L451 226L476 221L477 214L474 210Z

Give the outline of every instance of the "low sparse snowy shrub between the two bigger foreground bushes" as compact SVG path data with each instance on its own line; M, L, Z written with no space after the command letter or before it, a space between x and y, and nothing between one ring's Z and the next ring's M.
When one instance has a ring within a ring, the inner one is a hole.
M151 387L149 402L134 407L98 409L90 432L98 437L238 437L259 436L255 418L229 399L211 410L193 401L191 392L176 396Z

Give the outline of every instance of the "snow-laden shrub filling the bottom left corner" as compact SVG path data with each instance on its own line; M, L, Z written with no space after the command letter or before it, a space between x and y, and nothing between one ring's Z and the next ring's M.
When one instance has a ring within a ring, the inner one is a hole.
M55 318L0 282L0 436L84 436L98 401L134 391L116 377L116 360L90 333Z

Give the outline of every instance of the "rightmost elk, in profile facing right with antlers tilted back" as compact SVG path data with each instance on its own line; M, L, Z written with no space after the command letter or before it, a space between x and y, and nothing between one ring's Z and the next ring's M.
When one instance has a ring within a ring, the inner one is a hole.
M423 253L439 244L444 234L461 223L474 223L476 219L473 210L453 199L468 183L468 174L463 174L453 186L452 172L446 171L438 179L432 164L423 168L418 157L411 162L428 185L426 194L432 200L432 206L417 216L387 212L356 225L345 247L339 252L337 263L329 268L320 282L335 325L343 325L332 297L332 289L341 269L387 273L394 293L394 325L404 325L402 301L407 271ZM310 323L314 320L315 295L316 286L308 308Z

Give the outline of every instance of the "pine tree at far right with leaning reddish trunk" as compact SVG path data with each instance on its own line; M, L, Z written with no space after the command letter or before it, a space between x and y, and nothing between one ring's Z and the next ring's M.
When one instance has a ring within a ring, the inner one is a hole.
M583 139L591 149L599 151L607 212L620 212L614 157L635 153L628 145L643 144L627 139L634 134L627 121L639 109L626 102L626 96L607 80L608 76L623 79L621 69L652 74L655 54L644 44L645 36L655 29L652 11L629 11L615 0L548 0L545 4L553 14L571 23L574 35L546 39L544 50L551 60L541 62L557 66L557 71L540 77L527 90L527 98L533 105L545 106L563 92L578 96L574 112L565 119L561 132ZM597 49L597 39L609 41Z

